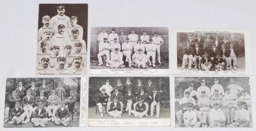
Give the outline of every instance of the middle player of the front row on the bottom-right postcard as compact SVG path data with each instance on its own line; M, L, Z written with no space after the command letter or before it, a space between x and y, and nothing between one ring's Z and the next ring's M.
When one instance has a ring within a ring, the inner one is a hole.
M219 103L214 103L214 108L210 110L211 127L225 127L226 117L219 108Z

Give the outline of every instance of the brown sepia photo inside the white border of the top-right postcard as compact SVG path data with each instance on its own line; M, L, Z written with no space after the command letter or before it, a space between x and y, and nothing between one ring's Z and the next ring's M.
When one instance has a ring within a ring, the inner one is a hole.
M244 33L177 33L178 70L245 71Z

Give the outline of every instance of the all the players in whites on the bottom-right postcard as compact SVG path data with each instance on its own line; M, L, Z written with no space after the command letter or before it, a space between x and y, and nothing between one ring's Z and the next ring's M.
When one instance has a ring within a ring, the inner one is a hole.
M223 87L215 80L211 91L202 81L198 91L193 90L191 84L184 92L179 104L182 110L176 113L179 126L186 127L251 127L251 98L248 92L233 84L227 86L224 93ZM238 94L242 96L238 98ZM194 99L196 98L196 100ZM193 108L194 106L194 108ZM199 111L196 108L199 108ZM198 119L199 118L199 121ZM208 124L207 125L207 121ZM183 124L184 122L184 124Z

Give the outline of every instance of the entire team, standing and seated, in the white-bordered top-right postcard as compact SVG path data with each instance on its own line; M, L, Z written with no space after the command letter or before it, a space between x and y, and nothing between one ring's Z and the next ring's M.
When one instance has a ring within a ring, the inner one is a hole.
M207 35L203 39L202 34L198 33L197 38L193 39L193 35L189 34L184 48L182 69L188 64L188 69L191 70L194 64L195 69L204 71L224 71L232 68L237 70L239 42L233 35L229 40L226 36L223 40L215 36L214 41L210 37Z

